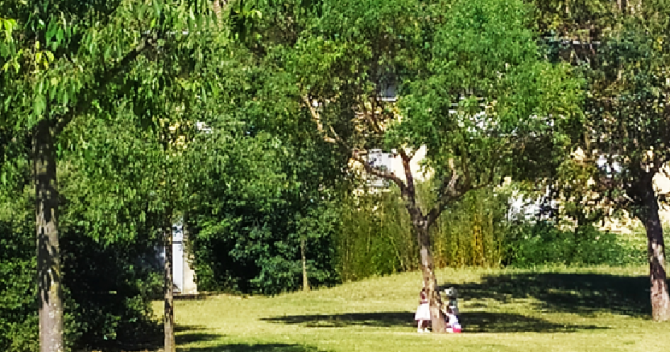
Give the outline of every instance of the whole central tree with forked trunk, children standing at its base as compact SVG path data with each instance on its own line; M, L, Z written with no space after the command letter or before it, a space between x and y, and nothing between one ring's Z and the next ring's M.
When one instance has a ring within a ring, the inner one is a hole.
M529 14L520 1L323 1L311 15L266 16L250 46L293 77L288 94L325 141L400 189L436 332L430 227L468 191L556 168L578 117L579 81L540 56ZM430 209L410 168L424 146L422 165L439 180ZM404 175L368 163L372 149L400 158Z

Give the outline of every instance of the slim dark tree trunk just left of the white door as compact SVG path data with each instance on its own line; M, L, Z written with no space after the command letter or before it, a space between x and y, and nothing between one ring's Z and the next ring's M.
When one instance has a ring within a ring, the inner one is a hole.
M172 216L168 215L163 224L164 264L164 351L174 352L174 278L172 273Z

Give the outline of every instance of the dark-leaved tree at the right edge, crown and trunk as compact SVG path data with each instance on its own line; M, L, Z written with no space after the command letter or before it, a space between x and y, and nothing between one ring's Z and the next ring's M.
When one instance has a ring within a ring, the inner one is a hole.
M659 219L664 195L653 183L670 161L670 3L554 3L538 13L545 37L562 44L559 57L583 68L588 82L584 130L575 145L596 169L591 191L602 199L597 206L627 210L645 226L652 318L670 320Z

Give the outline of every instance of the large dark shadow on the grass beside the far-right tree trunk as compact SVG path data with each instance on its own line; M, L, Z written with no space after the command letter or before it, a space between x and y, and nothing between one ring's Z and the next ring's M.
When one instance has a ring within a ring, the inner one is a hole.
M441 289L446 288L441 287ZM507 303L515 298L535 298L540 309L591 315L609 312L650 315L648 277L604 274L489 275L481 283L453 285L461 299L494 299Z

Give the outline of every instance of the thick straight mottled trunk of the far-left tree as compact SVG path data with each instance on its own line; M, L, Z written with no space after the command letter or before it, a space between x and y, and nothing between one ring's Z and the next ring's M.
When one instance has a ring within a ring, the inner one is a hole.
M63 289L58 236L58 187L56 151L48 119L37 122L32 138L35 177L35 227L37 229L37 300L39 348L60 352L63 345Z

